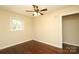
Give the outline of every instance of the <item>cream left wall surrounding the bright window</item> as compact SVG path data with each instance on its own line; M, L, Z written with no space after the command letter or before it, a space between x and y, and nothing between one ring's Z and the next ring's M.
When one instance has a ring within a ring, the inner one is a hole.
M24 23L24 30L10 30L10 17L19 18ZM32 39L32 21L31 18L0 9L0 49L15 44L26 42Z

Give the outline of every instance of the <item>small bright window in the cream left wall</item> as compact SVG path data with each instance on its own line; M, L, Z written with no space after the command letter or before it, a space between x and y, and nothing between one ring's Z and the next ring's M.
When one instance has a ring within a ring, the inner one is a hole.
M23 30L23 22L18 19L11 19L11 31Z

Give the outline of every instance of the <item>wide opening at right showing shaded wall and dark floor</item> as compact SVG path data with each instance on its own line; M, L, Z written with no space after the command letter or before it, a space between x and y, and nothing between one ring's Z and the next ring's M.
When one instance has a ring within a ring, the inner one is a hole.
M63 53L79 53L79 13L62 16Z

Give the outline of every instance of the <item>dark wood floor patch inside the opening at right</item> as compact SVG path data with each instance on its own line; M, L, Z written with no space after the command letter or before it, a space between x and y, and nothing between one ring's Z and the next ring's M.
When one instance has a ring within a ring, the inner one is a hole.
M63 53L64 54L79 54L79 47L63 43Z

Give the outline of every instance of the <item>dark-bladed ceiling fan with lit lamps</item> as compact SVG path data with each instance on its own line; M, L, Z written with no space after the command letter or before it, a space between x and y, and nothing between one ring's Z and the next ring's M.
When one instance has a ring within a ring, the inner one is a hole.
M33 13L33 16L44 15L42 12L43 12L43 11L47 11L47 8L40 10L37 5L32 5L32 6L33 6L33 9L34 9L34 10L33 10L33 11L31 11L31 10L26 10L26 12L34 12L34 13Z

